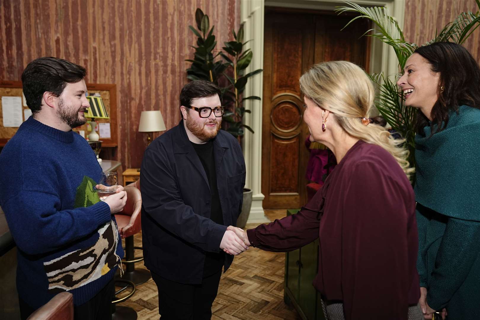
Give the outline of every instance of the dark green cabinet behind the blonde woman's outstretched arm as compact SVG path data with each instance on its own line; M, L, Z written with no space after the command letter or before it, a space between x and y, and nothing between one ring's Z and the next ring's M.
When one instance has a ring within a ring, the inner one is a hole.
M298 209L287 210L287 215ZM324 320L320 293L313 287L318 271L318 239L285 257L284 301L291 303L304 320Z

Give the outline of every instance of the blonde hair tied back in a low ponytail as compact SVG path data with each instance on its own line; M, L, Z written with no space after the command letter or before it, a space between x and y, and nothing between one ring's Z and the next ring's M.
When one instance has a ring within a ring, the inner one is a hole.
M348 61L315 64L300 77L300 90L317 105L333 112L350 136L388 151L410 178L415 169L409 167L408 150L400 146L405 140L394 139L382 126L362 124L362 118L370 118L375 90L359 66Z

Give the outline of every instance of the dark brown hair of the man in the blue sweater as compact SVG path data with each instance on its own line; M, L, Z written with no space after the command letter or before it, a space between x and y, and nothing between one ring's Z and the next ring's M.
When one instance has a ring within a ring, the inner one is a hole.
M45 92L51 92L59 97L67 83L77 83L85 75L84 67L64 59L42 57L33 60L22 73L22 86L27 106L32 113L39 112Z

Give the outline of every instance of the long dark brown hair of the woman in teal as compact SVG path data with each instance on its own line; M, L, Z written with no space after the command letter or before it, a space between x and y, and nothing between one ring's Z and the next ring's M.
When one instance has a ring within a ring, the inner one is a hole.
M480 109L480 68L466 48L453 42L434 42L414 53L426 59L433 72L440 72L438 99L431 113L431 127L436 124L437 129L433 132L432 128L432 134L444 130L450 110L457 111L462 105ZM418 112L415 131L424 135L423 128L428 125L429 119Z

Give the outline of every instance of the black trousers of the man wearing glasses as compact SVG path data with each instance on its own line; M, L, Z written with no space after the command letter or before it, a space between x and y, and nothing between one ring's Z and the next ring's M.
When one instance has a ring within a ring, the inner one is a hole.
M202 284L179 284L152 272L161 320L210 320L221 275L222 270L204 278Z

